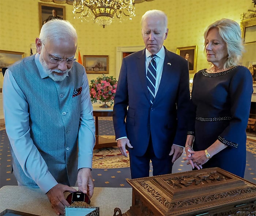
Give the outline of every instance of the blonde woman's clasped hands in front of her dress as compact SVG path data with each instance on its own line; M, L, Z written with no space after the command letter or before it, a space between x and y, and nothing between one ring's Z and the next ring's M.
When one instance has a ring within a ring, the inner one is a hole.
M202 169L202 165L208 161L204 151L193 151L190 146L185 147L187 157L184 160L188 160L187 164L191 164L192 168Z

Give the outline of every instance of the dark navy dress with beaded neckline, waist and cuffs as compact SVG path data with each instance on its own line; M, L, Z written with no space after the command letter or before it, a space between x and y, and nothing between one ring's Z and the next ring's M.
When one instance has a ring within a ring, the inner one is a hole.
M220 167L244 177L252 91L252 75L243 66L219 73L203 69L195 74L188 124L188 134L195 136L193 149L204 150L217 139L227 145L203 168Z

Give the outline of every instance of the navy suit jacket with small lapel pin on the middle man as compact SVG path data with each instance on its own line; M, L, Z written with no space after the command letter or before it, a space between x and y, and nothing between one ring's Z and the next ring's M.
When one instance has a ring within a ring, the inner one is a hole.
M155 155L163 158L173 143L185 146L190 99L188 62L165 48L162 77L151 105L145 58L144 49L123 59L114 98L114 130L116 139L128 137L133 146L129 152L137 156L145 154L151 133Z

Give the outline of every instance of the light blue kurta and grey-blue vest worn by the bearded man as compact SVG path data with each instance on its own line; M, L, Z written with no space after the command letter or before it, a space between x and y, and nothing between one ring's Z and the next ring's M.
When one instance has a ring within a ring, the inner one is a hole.
M73 96L79 87L81 94ZM20 184L46 193L57 183L74 186L78 168L92 168L95 126L82 65L74 62L68 76L54 82L39 54L24 58L5 73L3 102Z

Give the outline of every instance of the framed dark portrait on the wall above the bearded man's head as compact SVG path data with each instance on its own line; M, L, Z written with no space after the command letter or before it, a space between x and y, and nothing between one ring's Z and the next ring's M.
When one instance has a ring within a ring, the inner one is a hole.
M66 19L66 10L63 5L45 4L38 2L39 29L51 19Z

